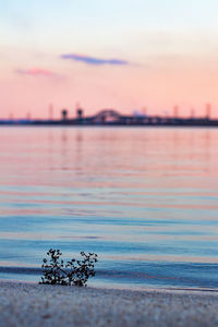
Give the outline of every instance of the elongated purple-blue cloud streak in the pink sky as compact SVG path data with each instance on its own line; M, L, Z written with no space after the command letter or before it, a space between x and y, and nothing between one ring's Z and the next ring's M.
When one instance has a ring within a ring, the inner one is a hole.
M76 55L76 53L62 55L61 59L82 61L84 63L93 64L93 65L102 65L102 64L126 65L126 64L130 64L130 62L128 62L126 60L101 59L101 58L89 57L89 56L84 56L84 55Z

